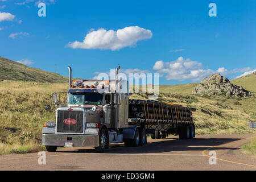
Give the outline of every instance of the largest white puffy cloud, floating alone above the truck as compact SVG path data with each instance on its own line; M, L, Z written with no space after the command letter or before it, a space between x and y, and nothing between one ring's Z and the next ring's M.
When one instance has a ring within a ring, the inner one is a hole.
M112 51L123 47L135 46L139 40L150 39L151 30L133 26L125 27L117 31L100 28L97 31L89 32L84 42L69 42L67 47L82 49L111 49Z

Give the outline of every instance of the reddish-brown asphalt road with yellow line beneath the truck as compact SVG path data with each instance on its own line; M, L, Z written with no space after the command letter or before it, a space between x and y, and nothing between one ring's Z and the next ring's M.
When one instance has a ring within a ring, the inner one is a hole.
M147 145L140 147L110 144L104 154L90 147L60 148L46 152L45 165L38 164L38 153L2 155L0 170L256 170L256 158L245 156L240 150L251 137L148 138ZM209 164L210 151L216 152L216 164Z

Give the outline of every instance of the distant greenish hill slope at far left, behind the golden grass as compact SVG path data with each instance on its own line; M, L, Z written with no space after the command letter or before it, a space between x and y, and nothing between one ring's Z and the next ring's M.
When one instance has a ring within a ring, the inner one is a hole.
M68 77L47 72L39 68L31 68L16 61L0 57L0 81L1 80L67 82Z

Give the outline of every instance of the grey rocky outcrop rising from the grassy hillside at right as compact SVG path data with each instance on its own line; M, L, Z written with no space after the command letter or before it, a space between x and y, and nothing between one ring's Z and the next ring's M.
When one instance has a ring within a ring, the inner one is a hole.
M193 88L192 94L208 94L209 96L222 94L236 97L252 96L249 91L243 89L242 86L233 85L228 78L221 76L220 73L203 78L201 84Z

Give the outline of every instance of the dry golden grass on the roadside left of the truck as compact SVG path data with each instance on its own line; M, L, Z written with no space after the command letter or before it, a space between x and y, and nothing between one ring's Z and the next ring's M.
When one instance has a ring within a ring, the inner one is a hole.
M41 150L44 122L55 121L55 110L46 111L55 90L67 84L0 82L0 154Z

